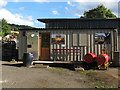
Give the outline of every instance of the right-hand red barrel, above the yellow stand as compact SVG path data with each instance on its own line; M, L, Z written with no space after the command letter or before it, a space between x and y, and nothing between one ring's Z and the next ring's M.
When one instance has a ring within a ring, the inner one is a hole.
M107 54L100 54L96 57L96 62L98 65L105 64L109 61L109 56Z

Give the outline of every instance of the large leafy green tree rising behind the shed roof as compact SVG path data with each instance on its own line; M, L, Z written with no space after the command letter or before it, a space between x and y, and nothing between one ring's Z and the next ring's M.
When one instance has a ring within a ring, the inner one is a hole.
M116 16L110 9L107 10L107 8L102 4L98 5L97 8L85 11L84 16L81 16L81 18L116 18Z

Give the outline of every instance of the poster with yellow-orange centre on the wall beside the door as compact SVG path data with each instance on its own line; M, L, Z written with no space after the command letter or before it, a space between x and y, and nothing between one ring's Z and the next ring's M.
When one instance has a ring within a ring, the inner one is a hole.
M65 44L65 34L52 34L51 43L53 43L53 44Z

